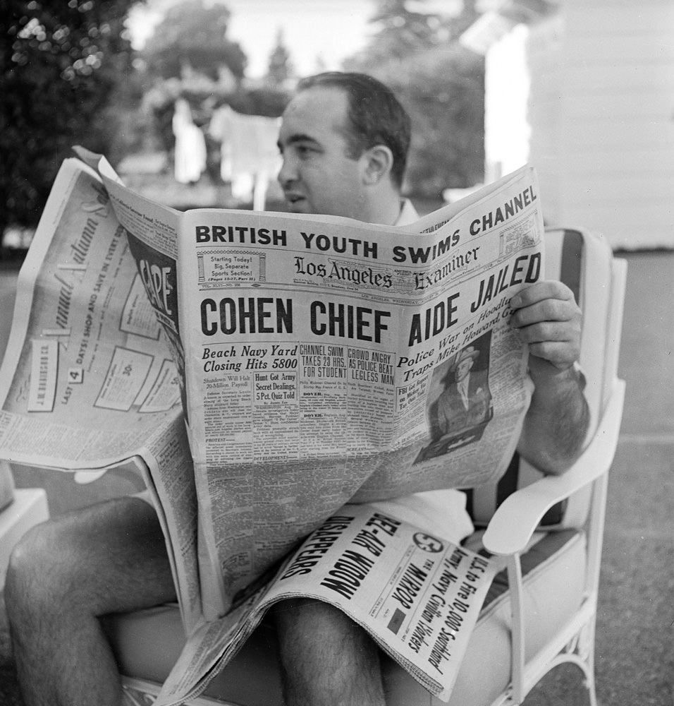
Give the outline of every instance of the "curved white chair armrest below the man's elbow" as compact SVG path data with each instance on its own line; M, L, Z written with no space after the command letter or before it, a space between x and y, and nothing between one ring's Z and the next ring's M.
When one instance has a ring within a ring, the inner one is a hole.
M487 551L498 556L524 551L549 508L608 472L618 445L624 399L625 383L616 380L592 441L568 471L545 476L505 498L484 532Z

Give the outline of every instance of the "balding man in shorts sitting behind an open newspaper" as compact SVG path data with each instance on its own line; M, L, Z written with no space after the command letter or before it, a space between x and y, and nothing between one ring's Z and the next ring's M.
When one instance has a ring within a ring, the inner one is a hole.
M278 140L278 179L290 210L384 225L415 220L400 198L409 132L398 101L372 78L329 73L301 83ZM573 371L580 311L558 282L538 282L511 304L513 326L532 353L535 385L520 452L548 472L563 472L587 428ZM434 493L392 506L431 523L452 513ZM27 534L6 581L26 706L119 706L119 677L97 616L175 599L157 516L139 498L100 503ZM379 651L364 630L306 600L278 604L274 618L288 706L384 704Z

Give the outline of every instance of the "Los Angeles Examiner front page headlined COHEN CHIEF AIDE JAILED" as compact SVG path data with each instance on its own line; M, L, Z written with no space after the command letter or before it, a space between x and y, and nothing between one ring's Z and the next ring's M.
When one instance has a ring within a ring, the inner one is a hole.
M508 302L541 276L538 204L523 169L425 234L185 213L190 443L222 597L207 617L352 499L501 474L531 392Z

